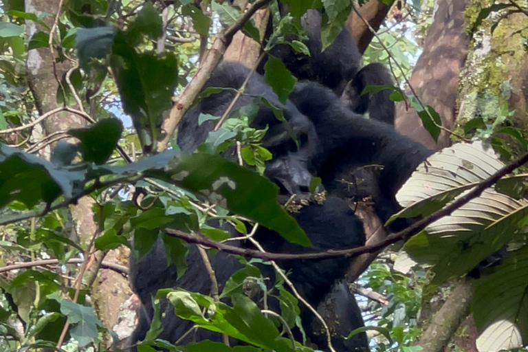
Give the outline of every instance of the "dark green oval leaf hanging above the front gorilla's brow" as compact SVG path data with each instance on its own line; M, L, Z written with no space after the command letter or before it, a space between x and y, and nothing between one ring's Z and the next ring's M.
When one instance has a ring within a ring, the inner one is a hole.
M264 80L267 85L272 87L281 102L286 102L289 94L294 91L297 78L289 72L281 59L272 55L268 56L264 70Z

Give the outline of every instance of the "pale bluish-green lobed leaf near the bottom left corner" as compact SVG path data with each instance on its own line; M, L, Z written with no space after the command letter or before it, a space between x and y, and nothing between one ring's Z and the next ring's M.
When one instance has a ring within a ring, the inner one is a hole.
M61 302L61 313L68 317L70 324L74 325L69 333L79 343L79 347L85 347L98 338L98 327L102 327L102 324L94 308L64 299Z

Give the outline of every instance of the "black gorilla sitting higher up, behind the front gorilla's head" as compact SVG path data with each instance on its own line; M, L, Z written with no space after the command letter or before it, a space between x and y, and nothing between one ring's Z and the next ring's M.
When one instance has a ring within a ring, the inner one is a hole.
M281 15L287 13L287 6L279 3ZM310 55L296 52L290 45L275 45L270 55L280 58L287 69L299 80L318 82L341 96L349 109L358 114L369 111L372 119L394 124L395 105L389 96L390 90L362 95L369 85L394 85L388 69L381 63L371 63L362 68L362 56L358 45L347 28L343 28L336 40L322 51L322 17L318 10L307 10L301 17L301 26L306 31ZM266 28L265 41L274 30L270 21ZM287 40L292 40L287 36ZM264 73L267 56L261 61L257 72Z

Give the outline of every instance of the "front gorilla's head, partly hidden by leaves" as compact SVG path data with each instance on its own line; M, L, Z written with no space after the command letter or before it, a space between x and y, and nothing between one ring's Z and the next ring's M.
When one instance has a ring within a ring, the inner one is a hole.
M212 74L207 87L225 87L239 89L250 69L238 63L223 63ZM234 99L233 89L203 98L197 106L186 113L179 126L177 142L181 151L194 151L204 142L216 122L206 121L198 124L200 113L221 116ZM267 133L261 141L273 155L265 164L265 175L281 188L281 195L307 197L312 179L311 161L320 151L320 142L314 124L300 113L292 102L283 104L261 76L253 74L245 86L244 94L236 100L233 110L252 104L255 97L265 98L276 109L259 106L250 126L265 129ZM281 120L276 112L282 113ZM283 118L283 120L282 120ZM226 151L225 156L236 160L234 148Z

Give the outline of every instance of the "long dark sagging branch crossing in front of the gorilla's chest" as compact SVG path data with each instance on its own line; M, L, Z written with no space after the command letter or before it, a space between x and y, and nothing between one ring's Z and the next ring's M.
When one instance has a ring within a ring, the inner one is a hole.
M373 245L364 245L362 247L357 248L348 248L343 250L327 250L325 252L316 252L316 253L302 253L302 254L289 254L289 253L270 253L270 252L259 252L257 250L250 250L248 248L239 248L232 245L226 245L225 243L220 243L217 241L213 241L212 239L209 239L206 236L203 236L203 234L195 233L195 234L188 234L186 232L182 232L179 230L174 230L171 228L166 228L165 232L170 236L178 237L179 239L183 239L184 241L187 241L188 243L197 243L200 245L206 245L207 247L214 248L217 250L221 250L223 252L228 252L231 254L241 255L241 256L250 256L252 258L259 258L263 259L265 261L273 261L273 260L314 260L314 259L324 259L324 258L330 258L333 256L359 256L360 254L364 253L374 253L378 250L383 250L388 245L392 245L393 243L397 243L399 241L407 241L410 239L410 237L414 236L426 226L430 225L431 223L434 223L434 221L437 221L447 215L450 215L454 210L459 209L461 206L464 206L466 203L471 201L472 199L475 199L476 197L479 197L482 192L491 186L493 186L501 177L507 175L508 173L511 173L513 170L518 168L519 166L526 164L528 162L528 153L525 155L522 155L522 157L519 157L514 162L511 162L511 164L504 166L503 168L500 168L496 171L493 175L488 177L487 179L481 181L478 183L477 186L475 186L470 192L467 192L462 197L459 197L458 199L455 199L445 208L442 208L441 210L438 210L434 213L432 213L429 217L426 217L424 219L421 219L420 221L417 221L410 225L408 228L397 232L395 234L389 234L386 239L383 241L380 241L380 243L375 243ZM1 223L0 223L1 225Z

